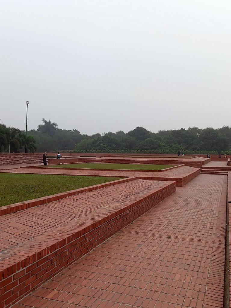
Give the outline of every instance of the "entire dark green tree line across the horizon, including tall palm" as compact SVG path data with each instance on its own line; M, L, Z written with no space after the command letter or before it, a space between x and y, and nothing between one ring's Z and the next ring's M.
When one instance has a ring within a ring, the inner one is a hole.
M5 138L3 136L4 129L8 130ZM25 140L24 131L18 132L18 130L14 137L10 137L9 130L13 134L13 132L17 131L17 128L7 128L5 125L1 125L0 146L5 151L10 149L10 152L20 151L19 147L21 146L22 149L25 144L27 151L33 151L30 144L32 143L31 140L34 140L36 142L36 145L34 143L34 148L37 148L37 152L47 150L47 152L161 154L176 153L178 150L184 150L186 154L206 154L207 152L210 154L231 154L231 127L229 126L217 129L189 127L188 129L160 130L157 133L150 132L143 127L136 127L127 133L118 131L115 133L96 133L89 136L80 134L77 129L59 129L57 123L51 123L50 120L43 119L43 124L40 124L37 130L28 131L27 140Z

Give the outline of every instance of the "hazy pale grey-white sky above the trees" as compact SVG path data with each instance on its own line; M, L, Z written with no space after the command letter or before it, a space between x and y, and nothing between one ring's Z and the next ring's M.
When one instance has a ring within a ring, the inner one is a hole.
M0 119L81 133L231 125L230 0L0 0Z

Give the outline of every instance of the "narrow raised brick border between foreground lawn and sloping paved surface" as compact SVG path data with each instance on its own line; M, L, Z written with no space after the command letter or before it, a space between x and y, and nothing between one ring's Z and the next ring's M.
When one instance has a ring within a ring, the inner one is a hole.
M116 176L116 177L120 177L120 176ZM49 202L52 202L52 201L61 200L61 199L67 198L67 197L78 195L80 193L86 193L86 192L97 190L97 189L100 189L100 188L103 188L103 187L116 185L116 184L120 184L120 183L125 183L125 182L130 182L130 181L137 180L137 179L139 179L139 177L126 177L125 179L122 179L122 180L115 180L115 181L106 182L106 183L102 183L102 184L98 184L98 185L93 185L93 186L88 186L88 187L84 187L84 188L70 190L70 191L67 191L67 192L64 192L64 193L58 193L58 194L55 194L55 195L36 198L36 199L28 200L28 201L22 201L22 202L18 202L18 203L14 203L14 204L9 204L9 205L3 205L3 206L0 207L0 216L7 215L7 214L10 214L10 213L15 213L15 212L18 212L18 211L22 211L24 209L29 209L29 208L32 208L34 206L46 204L46 203L49 203Z

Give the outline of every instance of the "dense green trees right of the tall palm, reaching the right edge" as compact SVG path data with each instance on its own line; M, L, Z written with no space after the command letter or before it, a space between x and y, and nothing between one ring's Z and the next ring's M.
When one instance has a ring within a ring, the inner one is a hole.
M96 137L97 135L97 137ZM137 152L137 153L185 153L224 152L231 150L231 128L189 127L179 130L149 132L136 127L128 133L122 131L96 134L84 138L75 146L75 152ZM231 152L230 152L231 153Z

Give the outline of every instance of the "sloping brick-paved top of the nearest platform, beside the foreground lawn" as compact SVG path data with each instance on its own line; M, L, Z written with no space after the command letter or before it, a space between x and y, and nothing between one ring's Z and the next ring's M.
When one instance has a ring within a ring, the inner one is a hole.
M168 183L134 180L1 216L0 261L118 205L135 202L137 196L141 199L154 188L163 188Z

